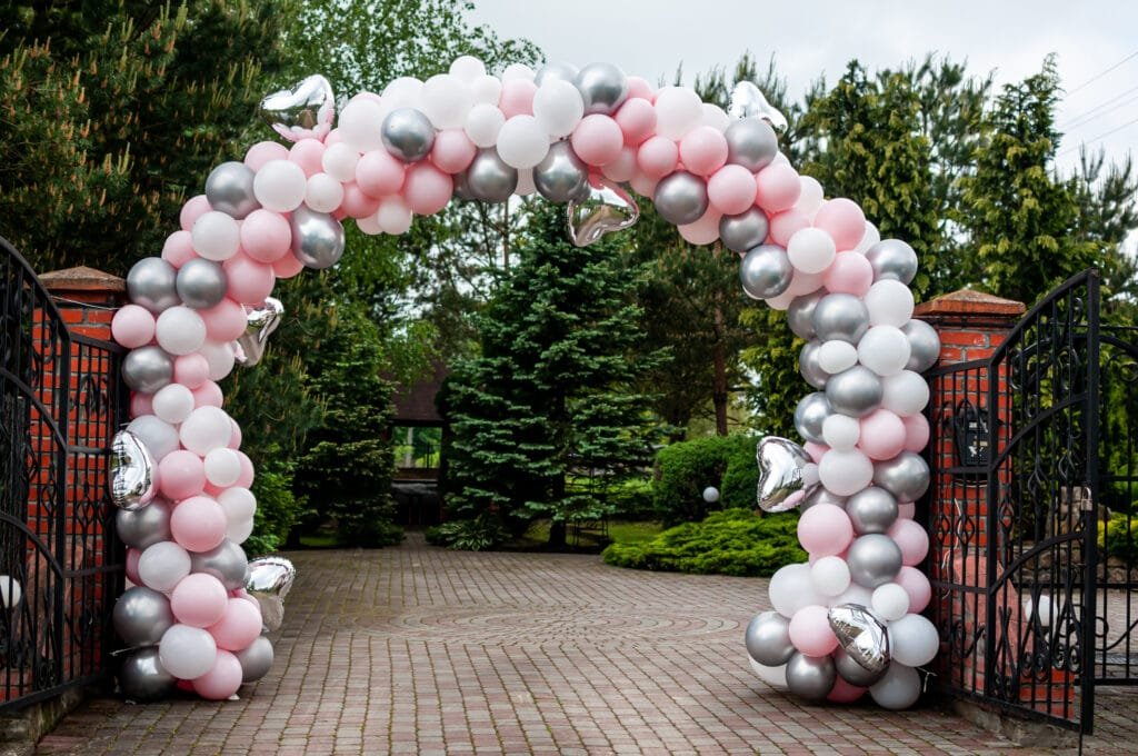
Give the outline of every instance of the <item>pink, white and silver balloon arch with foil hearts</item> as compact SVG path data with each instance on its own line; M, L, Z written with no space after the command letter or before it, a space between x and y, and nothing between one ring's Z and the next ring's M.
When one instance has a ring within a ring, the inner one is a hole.
M815 391L794 413L805 447L759 444L758 499L802 508L810 560L772 578L774 611L745 633L752 666L810 700L868 690L888 708L916 701L916 667L938 649L920 614L929 537L913 502L929 485L920 373L939 340L912 319L913 249L795 172L778 151L785 121L753 84L736 85L727 113L609 64L511 65L497 77L462 57L426 82L356 94L336 129L322 76L269 96L261 114L291 146L261 142L215 167L162 256L131 269L131 304L113 322L131 350L133 420L112 479L133 584L114 616L127 697L181 687L223 699L272 664L264 632L279 626L294 573L280 558L248 562L239 545L253 529L253 465L215 381L261 358L282 312L275 280L333 265L345 217L398 235L453 196L536 191L567 203L571 238L589 244L636 221L632 187L687 241L737 252L747 294L785 310L808 342L800 367Z

